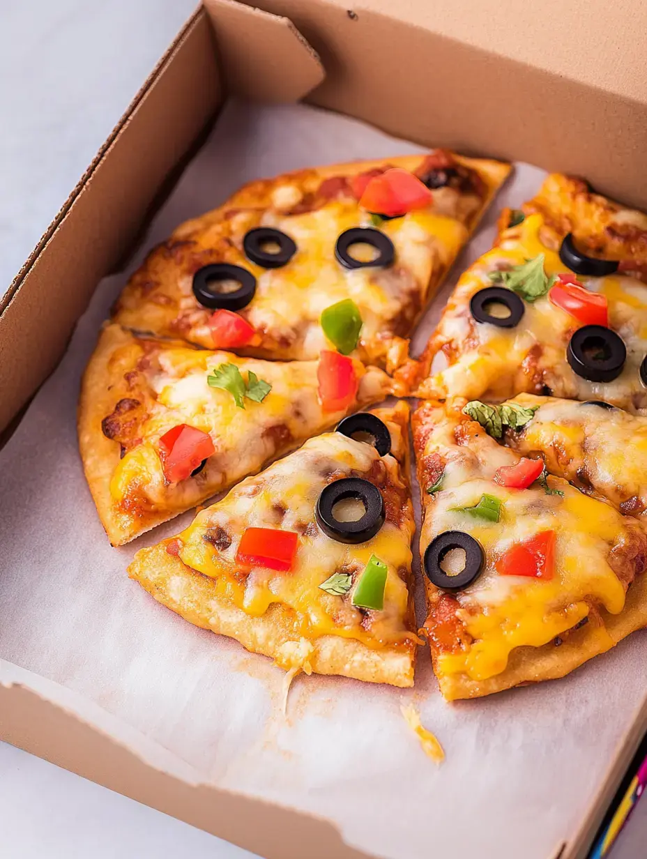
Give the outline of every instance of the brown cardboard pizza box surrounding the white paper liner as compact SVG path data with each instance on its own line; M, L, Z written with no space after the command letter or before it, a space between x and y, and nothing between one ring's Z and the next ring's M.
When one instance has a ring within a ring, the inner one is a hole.
M257 2L205 0L4 296L5 439L64 355L96 284L136 247L229 94L305 99L413 142L582 174L647 208L647 66L636 38L645 21L630 0L585 10L558 0ZM345 844L326 819L192 783L145 737L121 728L118 737L101 708L79 718L73 698L61 691L52 701L45 681L0 652L3 740L268 859L373 855ZM586 856L645 728L641 706L555 856Z

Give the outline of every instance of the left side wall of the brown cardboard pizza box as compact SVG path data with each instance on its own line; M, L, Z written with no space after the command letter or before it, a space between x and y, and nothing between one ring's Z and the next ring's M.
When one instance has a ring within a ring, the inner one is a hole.
M198 88L196 78L202 80ZM211 22L200 9L140 89L9 289L0 311L0 432L56 367L96 284L131 246L165 178L221 102ZM151 137L157 141L154 150Z

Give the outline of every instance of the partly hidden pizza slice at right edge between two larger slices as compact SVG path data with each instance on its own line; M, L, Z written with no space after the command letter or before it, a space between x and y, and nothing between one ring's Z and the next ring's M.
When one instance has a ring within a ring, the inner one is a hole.
M518 429L504 427L510 448L526 457L540 455L552 474L647 521L647 417L601 400L578 403L522 393L514 401L534 414Z

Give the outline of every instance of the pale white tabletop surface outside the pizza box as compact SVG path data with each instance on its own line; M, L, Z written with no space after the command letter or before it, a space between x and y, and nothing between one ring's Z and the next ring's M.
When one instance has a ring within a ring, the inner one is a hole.
M193 5L0 0L0 293ZM4 743L0 833L6 859L252 856ZM647 802L613 859L646 838Z

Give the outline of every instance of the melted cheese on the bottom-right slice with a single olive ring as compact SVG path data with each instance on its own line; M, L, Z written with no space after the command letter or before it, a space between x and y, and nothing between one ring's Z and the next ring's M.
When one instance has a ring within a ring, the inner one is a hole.
M479 578L456 597L457 614L473 642L457 653L439 654L437 669L484 680L504 671L514 649L541 647L570 630L589 614L590 601L613 614L622 611L625 588L607 558L614 546L623 544L627 529L610 505L583 496L565 481L553 483L563 497L534 486L498 486L492 481L495 470L504 461L515 462L516 454L485 433L459 448L450 431L454 425L446 420L424 449L426 455L440 453L447 462L424 539L445 531L467 532L483 546L486 560ZM484 492L503 505L498 522L475 520L454 509L473 506ZM557 538L552 580L497 572L497 559L512 545L548 530Z

